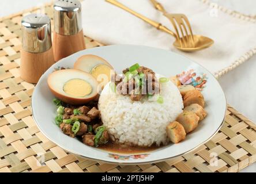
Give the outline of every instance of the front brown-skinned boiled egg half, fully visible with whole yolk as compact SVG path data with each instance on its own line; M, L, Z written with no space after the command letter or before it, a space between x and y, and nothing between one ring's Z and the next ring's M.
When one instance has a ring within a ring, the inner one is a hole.
M48 86L61 101L80 105L97 97L97 81L86 72L75 69L52 72L47 79Z

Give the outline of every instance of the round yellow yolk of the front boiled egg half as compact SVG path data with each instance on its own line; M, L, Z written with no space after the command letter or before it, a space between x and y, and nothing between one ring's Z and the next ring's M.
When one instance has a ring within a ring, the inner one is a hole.
M85 97L92 93L92 86L82 79L71 79L65 83L63 91L73 97Z

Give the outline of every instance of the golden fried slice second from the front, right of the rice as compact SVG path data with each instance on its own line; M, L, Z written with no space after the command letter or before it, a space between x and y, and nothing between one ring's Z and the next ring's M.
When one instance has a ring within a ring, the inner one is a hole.
M176 121L178 121L185 128L186 133L194 131L197 128L199 117L191 111L181 113Z

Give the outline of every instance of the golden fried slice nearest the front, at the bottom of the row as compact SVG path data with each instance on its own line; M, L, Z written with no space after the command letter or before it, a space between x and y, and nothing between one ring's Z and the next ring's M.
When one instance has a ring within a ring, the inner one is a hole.
M171 122L167 125L166 132L172 143L179 143L186 138L186 131L184 127L177 121Z

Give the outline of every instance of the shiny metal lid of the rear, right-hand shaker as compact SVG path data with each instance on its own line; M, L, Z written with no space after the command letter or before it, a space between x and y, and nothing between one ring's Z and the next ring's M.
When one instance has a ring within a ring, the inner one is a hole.
M54 3L54 31L72 35L82 30L81 3L78 0L57 0Z

